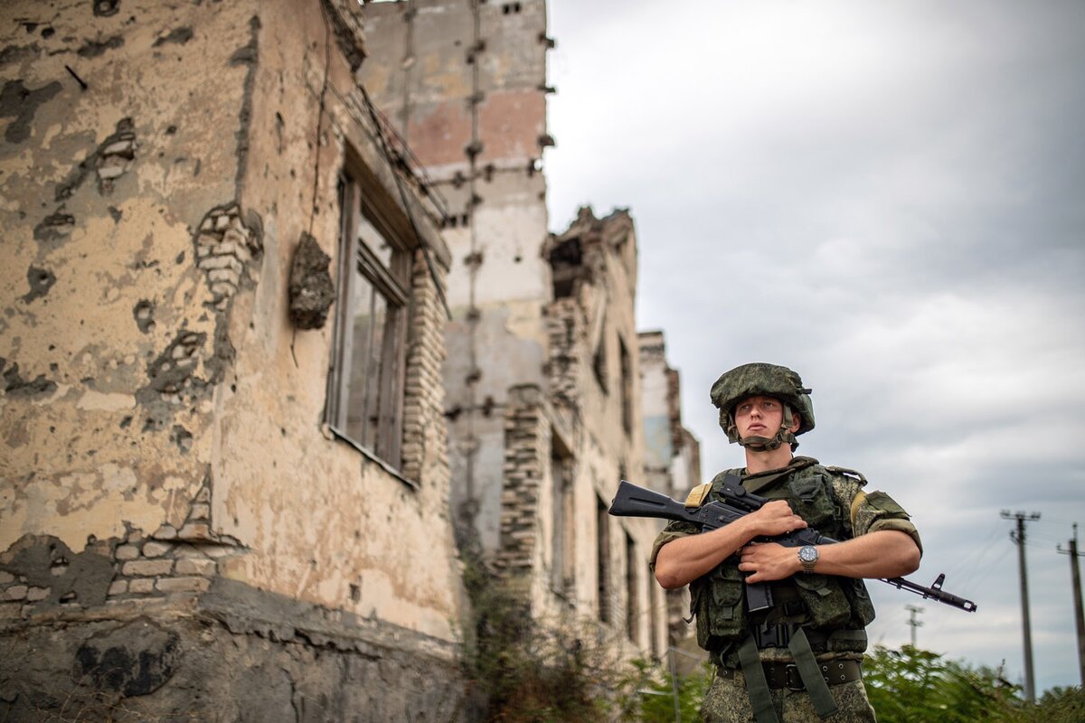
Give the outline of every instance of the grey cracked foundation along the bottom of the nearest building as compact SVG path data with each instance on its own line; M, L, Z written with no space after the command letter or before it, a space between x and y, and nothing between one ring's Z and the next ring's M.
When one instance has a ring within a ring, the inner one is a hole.
M215 579L0 624L2 721L470 721L452 646Z

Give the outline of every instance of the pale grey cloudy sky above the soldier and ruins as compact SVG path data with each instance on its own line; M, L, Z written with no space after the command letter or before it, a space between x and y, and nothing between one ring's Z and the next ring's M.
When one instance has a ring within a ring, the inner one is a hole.
M549 0L550 224L629 207L638 323L666 333L706 475L741 464L709 388L770 361L814 389L801 453L908 508L911 579L872 638L1076 685L1065 550L1085 524L1085 3ZM1085 546L1085 528L1082 530Z

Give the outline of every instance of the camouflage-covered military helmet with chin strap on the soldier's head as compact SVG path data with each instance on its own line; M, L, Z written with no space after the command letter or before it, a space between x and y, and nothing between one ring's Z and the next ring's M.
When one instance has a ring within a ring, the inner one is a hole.
M814 404L810 402L809 393L810 390L803 387L803 380L799 375L787 366L753 363L736 366L716 379L712 385L712 403L719 409L719 426L727 432L730 441L743 446L753 443L769 449L776 449L786 441L794 449L799 447L795 436L814 428ZM794 435L781 429L770 440L758 437L743 442L739 438L738 427L735 425L735 405L748 397L757 396L773 397L783 402L784 427L791 425L792 411L800 414L799 429Z

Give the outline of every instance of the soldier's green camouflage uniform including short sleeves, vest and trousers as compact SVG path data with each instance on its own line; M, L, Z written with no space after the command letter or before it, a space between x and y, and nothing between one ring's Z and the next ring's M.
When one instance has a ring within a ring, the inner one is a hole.
M793 457L782 469L749 476L744 472L728 470L713 481L728 474L740 475L745 489L773 500L787 500L810 527L838 540L877 530L899 530L920 544L907 513L882 492L865 493L861 488L866 480L858 473L824 467L816 460L802 456ZM710 501L718 499L715 490L709 495ZM697 532L697 527L687 522L669 524L655 540L652 564L664 544ZM873 619L873 607L861 580L817 573L793 576L770 583L776 606L758 614L744 609L744 584L733 556L690 584L698 642L724 673L714 677L705 696L702 714L710 723L754 723L738 655L742 643L751 637L750 631L761 623L801 624L819 663L858 661L866 649L864 628ZM786 645L762 648L758 657L762 662L793 661ZM832 723L875 720L861 681L831 685L829 693L839 712L826 720ZM775 688L769 694L782 723L819 720L806 690Z

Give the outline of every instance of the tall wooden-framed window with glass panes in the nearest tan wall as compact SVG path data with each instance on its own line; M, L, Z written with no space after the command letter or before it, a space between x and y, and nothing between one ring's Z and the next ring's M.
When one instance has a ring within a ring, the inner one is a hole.
M363 190L349 171L341 177L342 263L328 422L398 470L410 254Z

